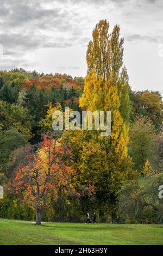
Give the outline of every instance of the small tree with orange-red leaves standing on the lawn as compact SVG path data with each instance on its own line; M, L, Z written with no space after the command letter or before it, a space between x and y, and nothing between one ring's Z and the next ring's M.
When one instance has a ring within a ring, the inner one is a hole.
M27 158L28 164L19 166L8 189L35 208L36 225L40 225L43 209L56 202L61 195L75 194L71 184L74 170L68 166L71 151L61 139L45 135L34 153L29 153L28 149Z

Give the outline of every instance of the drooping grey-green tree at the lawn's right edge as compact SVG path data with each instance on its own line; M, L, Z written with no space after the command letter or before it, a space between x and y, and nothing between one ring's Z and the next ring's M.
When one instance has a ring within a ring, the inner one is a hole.
M118 212L124 223L162 223L163 201L159 186L163 175L135 179L120 190Z

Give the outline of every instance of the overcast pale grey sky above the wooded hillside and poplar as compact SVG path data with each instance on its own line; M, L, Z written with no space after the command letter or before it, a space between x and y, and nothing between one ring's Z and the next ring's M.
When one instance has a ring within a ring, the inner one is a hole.
M86 75L92 29L107 19L124 37L124 65L134 90L163 94L162 0L1 0L0 69ZM3 46L3 56L2 48Z

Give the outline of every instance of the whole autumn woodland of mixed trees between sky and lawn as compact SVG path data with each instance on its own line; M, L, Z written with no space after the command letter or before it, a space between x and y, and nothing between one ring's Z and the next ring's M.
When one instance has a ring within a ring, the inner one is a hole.
M0 71L0 218L163 223L162 96L130 87L123 42L120 26L101 20L85 77ZM65 107L111 111L111 134L54 131Z

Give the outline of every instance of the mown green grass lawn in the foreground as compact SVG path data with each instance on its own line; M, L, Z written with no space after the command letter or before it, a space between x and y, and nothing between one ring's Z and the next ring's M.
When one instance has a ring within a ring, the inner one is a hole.
M42 223L0 219L0 245L163 245L163 225Z

